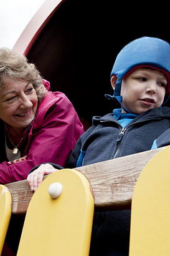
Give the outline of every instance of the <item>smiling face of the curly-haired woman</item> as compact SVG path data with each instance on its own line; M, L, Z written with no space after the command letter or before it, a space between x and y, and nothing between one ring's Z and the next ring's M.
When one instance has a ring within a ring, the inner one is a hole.
M7 81L0 91L0 118L12 129L22 131L35 118L37 94L25 80Z

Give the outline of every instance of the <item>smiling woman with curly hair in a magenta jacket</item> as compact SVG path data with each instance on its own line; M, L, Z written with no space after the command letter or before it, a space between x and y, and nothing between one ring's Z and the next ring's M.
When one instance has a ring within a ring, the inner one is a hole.
M27 178L35 165L65 165L83 126L62 92L49 91L26 57L0 49L0 183Z

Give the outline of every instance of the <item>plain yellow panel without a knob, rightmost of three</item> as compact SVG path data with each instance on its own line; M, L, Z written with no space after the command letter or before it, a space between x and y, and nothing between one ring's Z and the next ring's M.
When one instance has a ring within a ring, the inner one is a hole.
M130 256L170 255L170 147L139 175L131 207Z

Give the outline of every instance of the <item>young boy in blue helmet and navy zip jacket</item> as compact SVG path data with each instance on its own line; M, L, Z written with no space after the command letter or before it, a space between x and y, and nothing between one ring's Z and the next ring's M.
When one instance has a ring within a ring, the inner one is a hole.
M170 109L163 107L170 92L170 46L154 37L126 45L111 71L113 96L120 109L93 117L93 126L81 135L68 167L93 164L151 149L153 141L170 127ZM54 165L57 167L57 165ZM27 180L32 190L52 165L41 165ZM130 210L95 212L90 255L128 255Z

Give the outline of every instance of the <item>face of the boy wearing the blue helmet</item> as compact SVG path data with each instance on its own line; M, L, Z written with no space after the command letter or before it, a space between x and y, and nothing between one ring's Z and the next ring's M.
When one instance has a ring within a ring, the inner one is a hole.
M166 85L167 79L163 72L144 67L136 69L122 81L123 107L136 114L160 107L164 101Z

